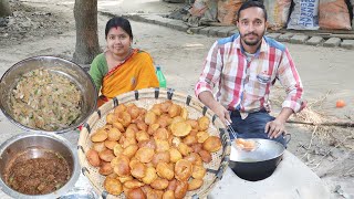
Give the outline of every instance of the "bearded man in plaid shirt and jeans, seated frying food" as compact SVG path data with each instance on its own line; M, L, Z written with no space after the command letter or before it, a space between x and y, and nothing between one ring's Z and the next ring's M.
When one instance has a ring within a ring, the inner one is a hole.
M304 104L295 65L283 44L264 36L267 11L262 3L244 2L238 11L237 28L239 33L211 46L196 95L223 123L231 123L238 137L273 139L285 146L284 124ZM268 113L270 87L275 80L288 94L277 118Z

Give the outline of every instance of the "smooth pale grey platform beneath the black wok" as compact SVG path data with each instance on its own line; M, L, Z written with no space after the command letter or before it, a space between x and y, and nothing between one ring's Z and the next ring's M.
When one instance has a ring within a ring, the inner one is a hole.
M308 166L285 150L273 175L264 180L247 181L228 168L209 198L329 199L330 191Z

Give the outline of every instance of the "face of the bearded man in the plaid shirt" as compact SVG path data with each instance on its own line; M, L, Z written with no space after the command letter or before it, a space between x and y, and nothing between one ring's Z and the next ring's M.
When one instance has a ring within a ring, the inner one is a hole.
M242 44L258 45L264 35L266 27L264 12L261 8L252 7L242 10L237 22Z

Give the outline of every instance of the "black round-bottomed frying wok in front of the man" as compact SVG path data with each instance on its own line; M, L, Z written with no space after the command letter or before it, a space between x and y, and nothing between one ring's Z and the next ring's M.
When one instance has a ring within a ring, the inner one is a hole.
M285 147L270 139L249 138L246 140L254 142L254 149L244 150L232 142L229 167L238 177L249 181L270 177L282 160Z

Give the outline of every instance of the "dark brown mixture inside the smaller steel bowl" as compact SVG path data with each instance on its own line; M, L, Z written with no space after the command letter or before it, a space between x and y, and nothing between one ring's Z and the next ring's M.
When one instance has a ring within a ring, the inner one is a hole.
M25 195L45 195L66 184L70 178L66 160L51 150L37 149L37 154L39 157L31 158L31 149L10 161L4 175L9 187Z

